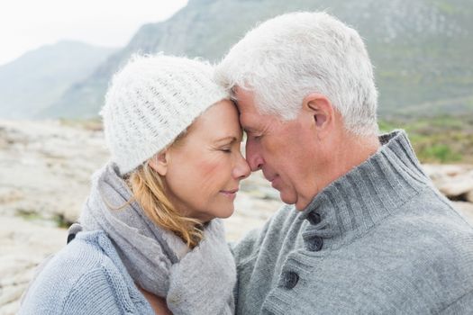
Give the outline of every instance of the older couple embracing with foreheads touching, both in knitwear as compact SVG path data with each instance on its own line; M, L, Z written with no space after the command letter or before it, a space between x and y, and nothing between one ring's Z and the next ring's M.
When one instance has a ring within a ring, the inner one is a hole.
M376 111L329 14L261 23L215 68L132 58L101 112L111 162L20 313L473 313L473 229ZM229 247L219 218L258 170L287 205Z

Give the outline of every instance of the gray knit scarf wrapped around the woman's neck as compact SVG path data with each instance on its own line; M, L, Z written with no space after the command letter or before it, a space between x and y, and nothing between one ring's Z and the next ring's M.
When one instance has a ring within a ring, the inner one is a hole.
M236 271L223 222L205 224L204 239L191 250L156 226L137 202L119 209L131 198L118 168L107 164L93 176L79 220L83 229L104 230L133 281L166 298L173 314L233 314Z

